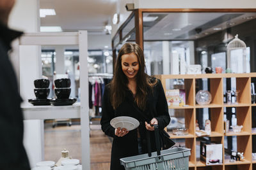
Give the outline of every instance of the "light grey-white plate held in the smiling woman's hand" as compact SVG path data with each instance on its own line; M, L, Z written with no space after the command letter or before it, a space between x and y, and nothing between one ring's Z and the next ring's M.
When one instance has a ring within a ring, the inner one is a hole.
M110 121L111 126L114 128L120 127L127 129L127 131L132 131L133 129L136 129L140 122L132 117L115 117Z

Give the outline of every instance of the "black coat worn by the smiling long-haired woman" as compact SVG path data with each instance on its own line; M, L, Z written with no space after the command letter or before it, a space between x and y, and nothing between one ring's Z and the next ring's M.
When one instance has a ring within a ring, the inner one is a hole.
M145 122L149 123L152 118L156 118L158 120L159 129L164 129L170 122L168 105L161 81L157 80L153 93L148 92L145 111L141 111L134 103L134 98L132 97L132 92L130 90L127 90L125 101L114 110L110 103L108 86L104 90L100 124L102 131L105 132L106 135L114 138L111 152L111 170L124 169L124 166L120 165L121 158L138 155L138 130L134 129L129 131L125 136L118 137L115 136L114 127L110 125L110 120L112 118L121 116L133 117L139 120L140 126L138 129L142 141L142 152L147 153L147 129L145 128ZM150 131L150 142L152 151L155 151L156 142L154 131Z

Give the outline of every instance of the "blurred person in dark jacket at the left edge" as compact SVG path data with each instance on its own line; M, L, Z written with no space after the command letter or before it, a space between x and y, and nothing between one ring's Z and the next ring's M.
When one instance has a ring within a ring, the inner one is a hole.
M8 53L22 32L7 27L15 0L0 0L0 169L30 169L23 146L23 115L16 75Z

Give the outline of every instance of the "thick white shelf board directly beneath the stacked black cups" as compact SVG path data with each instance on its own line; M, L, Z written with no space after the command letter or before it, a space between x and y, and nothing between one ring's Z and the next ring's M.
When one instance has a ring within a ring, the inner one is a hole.
M22 104L24 119L80 118L80 103L71 106L33 106Z

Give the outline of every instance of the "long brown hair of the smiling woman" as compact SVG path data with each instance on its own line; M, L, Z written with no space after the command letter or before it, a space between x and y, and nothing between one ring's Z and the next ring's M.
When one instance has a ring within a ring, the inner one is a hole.
M145 110L147 94L150 92L148 89L153 90L157 81L145 73L144 54L140 46L135 43L125 43L118 53L115 64L115 73L113 75L113 80L110 83L110 101L114 109L124 101L125 91L128 88L128 79L122 70L122 55L127 53L135 53L138 57L140 68L136 74L137 89L134 102L141 110Z

